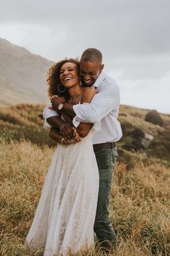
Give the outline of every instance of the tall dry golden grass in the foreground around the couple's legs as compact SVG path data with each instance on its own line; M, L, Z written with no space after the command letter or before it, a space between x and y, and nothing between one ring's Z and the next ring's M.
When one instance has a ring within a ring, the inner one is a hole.
M54 148L31 142L1 142L1 248L0 255L41 255L24 244ZM118 244L108 255L170 255L170 171L140 158L134 168L117 163L110 215ZM73 255L73 254L72 254ZM96 251L77 255L105 255Z

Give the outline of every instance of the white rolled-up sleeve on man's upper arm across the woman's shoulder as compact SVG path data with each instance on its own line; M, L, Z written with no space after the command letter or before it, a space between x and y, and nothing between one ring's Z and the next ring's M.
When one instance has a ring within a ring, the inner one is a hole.
M102 92L94 95L91 103L77 104L73 106L76 113L74 125L79 122L95 123L100 121L120 104L120 91L117 86L109 86Z

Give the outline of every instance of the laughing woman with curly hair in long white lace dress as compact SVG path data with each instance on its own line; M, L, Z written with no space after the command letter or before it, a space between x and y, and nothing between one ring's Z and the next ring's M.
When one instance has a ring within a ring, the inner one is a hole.
M53 65L48 85L50 95L63 95L73 104L89 103L96 93L92 88L81 88L79 62L75 59ZM64 118L69 121L68 116ZM99 173L91 137L96 126L80 124L79 131L86 135L80 141L76 132L70 141L55 131L55 140L61 144L53 155L27 235L32 249L45 248L44 256L67 255L70 249L73 252L89 249L94 243Z

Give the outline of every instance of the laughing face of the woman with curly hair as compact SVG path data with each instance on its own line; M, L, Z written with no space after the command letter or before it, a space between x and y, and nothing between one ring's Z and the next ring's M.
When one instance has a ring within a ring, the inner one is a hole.
M71 88L80 83L77 65L66 62L61 66L60 80L64 87Z

